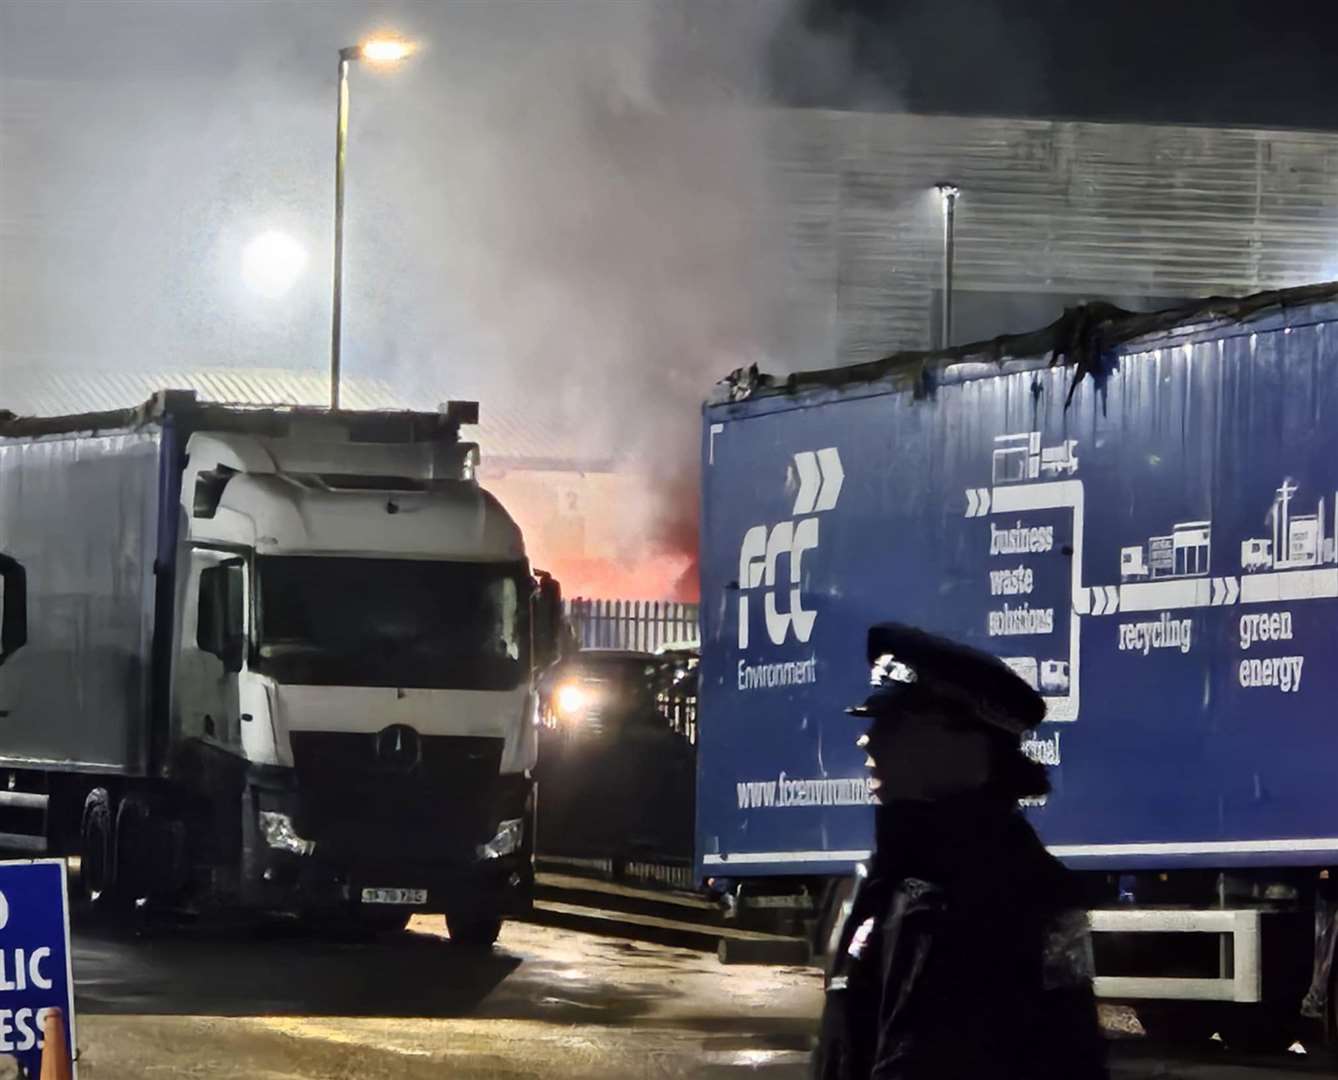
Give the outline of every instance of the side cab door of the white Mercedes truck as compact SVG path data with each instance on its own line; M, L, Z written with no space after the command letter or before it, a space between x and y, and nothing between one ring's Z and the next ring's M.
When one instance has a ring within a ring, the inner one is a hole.
M195 549L177 666L177 723L183 737L241 749L237 676L246 662L246 561Z

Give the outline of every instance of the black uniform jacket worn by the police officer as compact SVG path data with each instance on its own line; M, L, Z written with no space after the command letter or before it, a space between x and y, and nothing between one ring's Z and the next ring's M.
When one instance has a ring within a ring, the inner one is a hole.
M1008 803L878 811L818 1080L1104 1080L1074 878Z

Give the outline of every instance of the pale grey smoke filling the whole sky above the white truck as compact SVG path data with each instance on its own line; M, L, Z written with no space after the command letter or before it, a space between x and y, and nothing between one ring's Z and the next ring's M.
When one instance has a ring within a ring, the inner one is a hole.
M689 550L702 397L792 359L768 63L844 62L796 12L0 0L0 383L321 369L334 54L395 29L420 52L353 71L347 371L419 404L541 406L575 451L649 474L629 537ZM237 278L269 228L309 252L282 302Z

